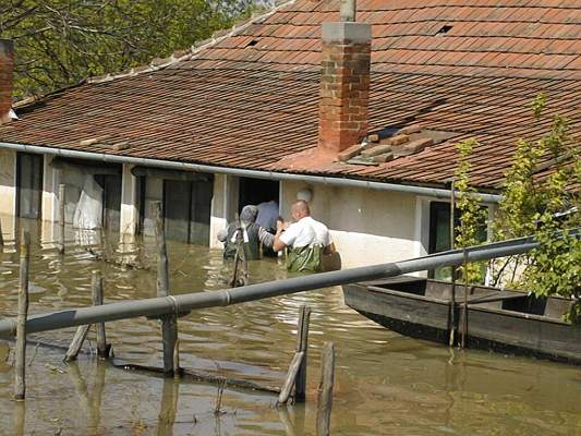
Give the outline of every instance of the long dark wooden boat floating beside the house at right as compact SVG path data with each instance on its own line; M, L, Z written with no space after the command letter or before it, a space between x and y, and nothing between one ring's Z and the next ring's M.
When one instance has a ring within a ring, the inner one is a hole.
M384 327L413 338L449 342L449 282L403 276L344 284L343 294L347 305ZM570 300L470 287L464 311L464 294L465 288L457 284L455 337L459 340L465 328L467 347L581 364L581 326L562 320Z

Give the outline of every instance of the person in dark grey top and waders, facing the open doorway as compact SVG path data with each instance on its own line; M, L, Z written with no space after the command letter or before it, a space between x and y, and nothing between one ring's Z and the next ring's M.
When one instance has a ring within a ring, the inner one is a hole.
M239 230L242 231L242 246L246 261L256 261L261 256L261 243L271 247L275 237L256 223L258 208L247 205L240 213L240 229L237 222L230 222L226 229L218 232L218 241L223 242L223 258L233 259L237 253Z

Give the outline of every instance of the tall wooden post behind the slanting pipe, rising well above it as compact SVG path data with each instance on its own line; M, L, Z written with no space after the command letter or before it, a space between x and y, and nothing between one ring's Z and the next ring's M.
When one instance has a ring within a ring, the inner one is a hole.
M166 231L161 215L161 202L152 204L156 220L157 235L157 296L169 295L169 267L168 251L166 245ZM175 315L165 315L161 319L161 338L164 343L164 372L173 373L173 350L178 340L178 318Z

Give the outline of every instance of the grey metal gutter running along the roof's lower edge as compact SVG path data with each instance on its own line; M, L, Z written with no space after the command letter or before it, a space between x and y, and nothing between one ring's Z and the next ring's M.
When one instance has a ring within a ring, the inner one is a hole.
M254 178L254 179L290 180L290 181L301 181L305 183L319 183L319 184L325 184L329 186L361 187L361 189L368 189L368 190L376 190L376 191L392 191L392 192L401 192L401 193L409 193L409 194L416 194L416 195L425 195L425 196L431 196L431 197L436 197L436 198L449 198L450 197L449 190L444 190L444 189L438 189L438 187L415 186L415 185L407 185L407 184L398 184L398 183L373 182L373 181L367 181L367 180L344 179L344 178L339 178L339 177L306 175L306 174L293 174L293 173L288 173L288 172L245 170L241 168L215 167L215 166L209 166L209 165L175 162L172 160L147 159L147 158L142 158L142 157L108 155L105 153L80 152L80 150L72 150L72 149L66 149L66 148L44 147L44 146L37 146L37 145L2 143L2 142L0 142L0 148L13 149L16 152L24 152L24 153L36 153L36 154L71 157L71 158L93 159L93 160L100 160L105 162L141 165L145 167L157 167L157 168L166 168L166 169L182 170L182 171L215 172L218 174L239 175L239 177L247 177L247 178ZM503 198L501 195L487 194L487 193L479 193L479 196L481 201L484 203L498 203Z

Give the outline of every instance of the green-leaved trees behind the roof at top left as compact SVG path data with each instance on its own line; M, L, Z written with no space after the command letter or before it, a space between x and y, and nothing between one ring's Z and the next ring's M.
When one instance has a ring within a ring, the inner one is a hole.
M15 41L15 97L145 64L247 15L253 0L8 0L0 37Z

